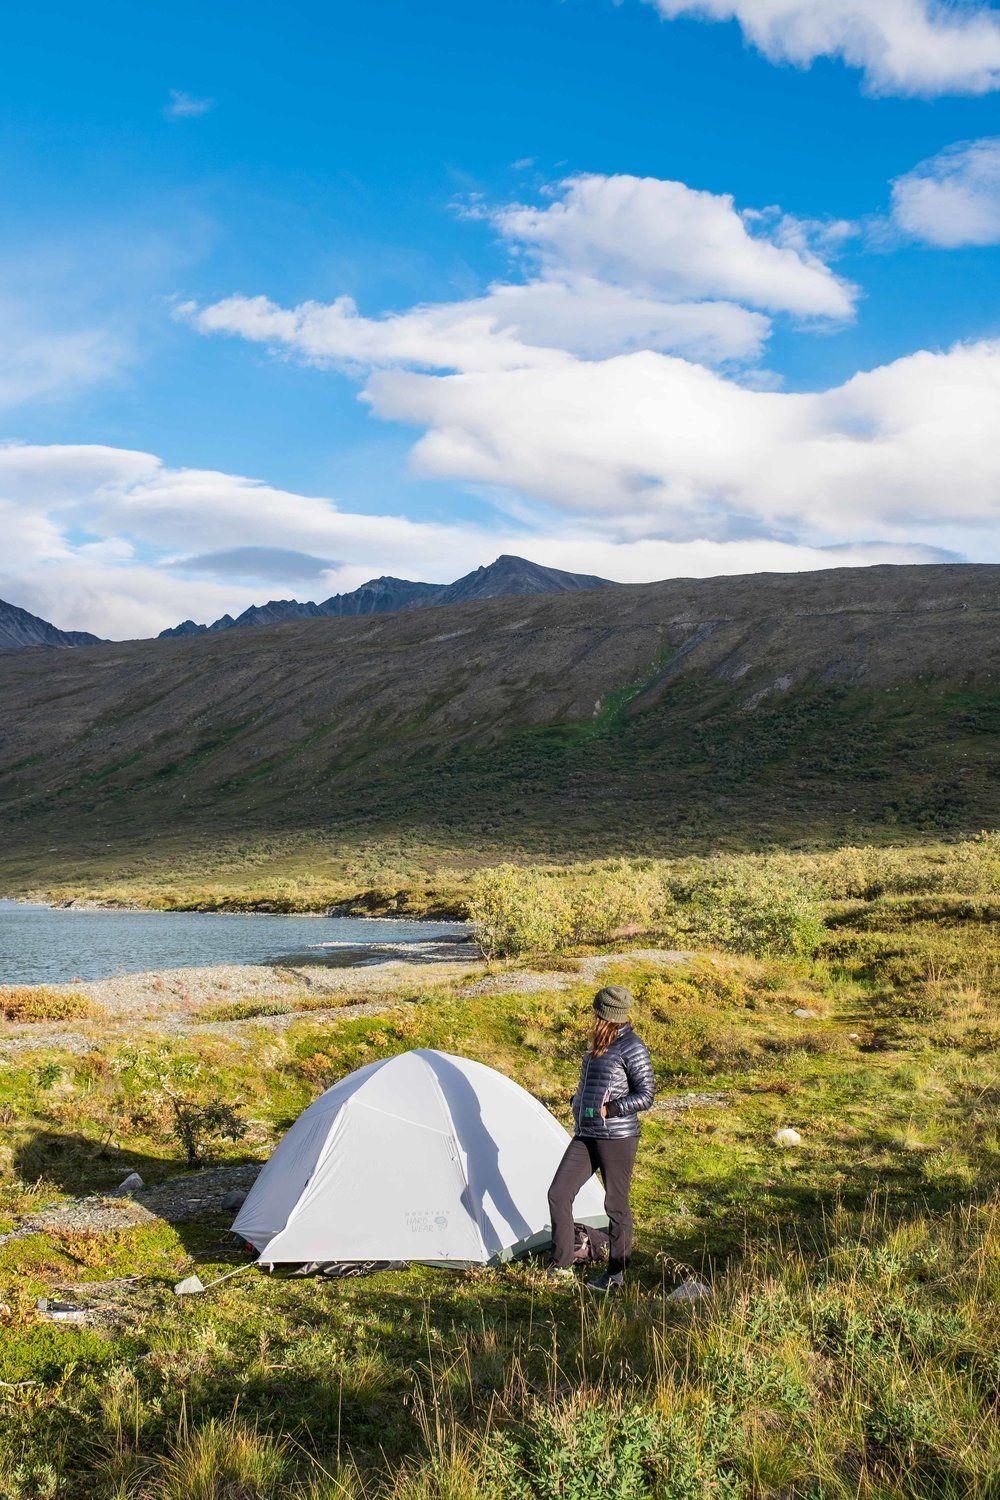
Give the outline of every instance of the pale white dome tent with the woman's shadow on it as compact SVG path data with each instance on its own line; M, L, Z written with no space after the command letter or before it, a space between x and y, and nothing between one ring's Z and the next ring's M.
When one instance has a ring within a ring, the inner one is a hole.
M232 1226L259 1264L490 1264L550 1239L568 1136L493 1068L420 1048L358 1068L304 1110ZM577 1198L606 1224L597 1182Z

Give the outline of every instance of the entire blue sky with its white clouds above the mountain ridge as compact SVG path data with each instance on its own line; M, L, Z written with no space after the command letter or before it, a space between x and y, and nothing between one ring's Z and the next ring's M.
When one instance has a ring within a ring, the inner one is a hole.
M12 12L0 592L996 558L997 12L768 9Z

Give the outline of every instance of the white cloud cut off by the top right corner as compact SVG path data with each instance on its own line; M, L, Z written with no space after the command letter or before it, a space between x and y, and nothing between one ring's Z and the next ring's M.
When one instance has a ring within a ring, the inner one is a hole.
M661 15L738 21L772 63L838 57L879 94L982 94L1000 84L1000 18L943 0L651 0Z

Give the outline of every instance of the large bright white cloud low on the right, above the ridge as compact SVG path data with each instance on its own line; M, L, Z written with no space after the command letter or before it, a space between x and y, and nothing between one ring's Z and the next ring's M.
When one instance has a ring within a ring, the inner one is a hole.
M814 394L649 352L544 372L382 372L367 390L381 417L427 429L420 472L510 486L636 536L742 528L810 544L996 526L999 398L997 344L918 352Z

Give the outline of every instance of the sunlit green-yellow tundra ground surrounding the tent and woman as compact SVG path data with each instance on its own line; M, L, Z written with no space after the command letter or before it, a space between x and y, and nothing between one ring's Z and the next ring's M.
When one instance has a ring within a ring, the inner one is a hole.
M462 890L492 972L376 1016L268 1029L250 1006L238 1035L124 1041L100 1014L31 1030L4 998L3 1500L993 1500L1000 837L508 864ZM565 1120L580 963L607 950L660 1088L616 1300L531 1264L247 1269L177 1299L246 1263L226 1216L37 1224L127 1172L183 1174L177 1100L228 1112L198 1156L262 1160L319 1089L415 1046ZM711 1294L672 1299L694 1276ZM43 1296L99 1311L52 1323Z

